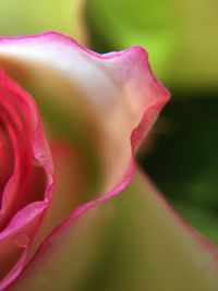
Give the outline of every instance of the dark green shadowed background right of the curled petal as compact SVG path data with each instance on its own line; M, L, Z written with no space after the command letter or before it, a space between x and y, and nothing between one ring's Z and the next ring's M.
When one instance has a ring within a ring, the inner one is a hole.
M196 95L172 98L157 147L141 162L187 221L218 244L218 99L216 92Z

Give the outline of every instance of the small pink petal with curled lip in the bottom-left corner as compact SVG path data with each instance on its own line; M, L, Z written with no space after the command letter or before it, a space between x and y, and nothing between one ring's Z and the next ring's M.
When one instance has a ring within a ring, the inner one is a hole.
M4 290L22 271L33 237L48 204L35 202L20 210L0 233L0 290Z

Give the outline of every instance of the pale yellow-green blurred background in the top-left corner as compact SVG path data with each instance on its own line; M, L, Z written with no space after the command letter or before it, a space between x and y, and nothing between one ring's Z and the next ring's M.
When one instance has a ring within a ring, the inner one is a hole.
M0 35L58 31L85 43L84 0L1 0Z

